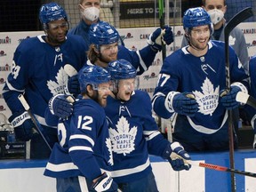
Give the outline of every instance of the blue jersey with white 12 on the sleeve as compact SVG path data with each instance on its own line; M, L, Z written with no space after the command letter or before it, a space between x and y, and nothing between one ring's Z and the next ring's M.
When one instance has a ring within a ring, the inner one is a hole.
M113 156L105 111L91 99L78 100L67 121L58 124L55 143L44 175L68 178L83 175L89 180L111 171Z

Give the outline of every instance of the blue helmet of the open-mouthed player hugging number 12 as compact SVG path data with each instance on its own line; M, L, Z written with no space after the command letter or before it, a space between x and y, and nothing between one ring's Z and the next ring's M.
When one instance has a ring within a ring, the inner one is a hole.
M136 77L136 69L127 60L115 60L108 63L108 71L111 79L129 79Z

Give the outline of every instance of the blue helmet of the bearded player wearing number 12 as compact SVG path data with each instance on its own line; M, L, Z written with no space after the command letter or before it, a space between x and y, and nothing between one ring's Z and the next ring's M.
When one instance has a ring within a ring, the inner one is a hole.
M92 84L96 88L98 84L108 83L110 74L108 70L99 66L84 66L78 72L78 81L81 92L86 92L88 84Z

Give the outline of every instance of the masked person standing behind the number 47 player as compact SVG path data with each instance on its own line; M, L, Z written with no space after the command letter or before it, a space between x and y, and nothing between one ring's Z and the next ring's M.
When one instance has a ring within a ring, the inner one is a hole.
M203 8L210 14L214 32L211 36L213 40L224 42L224 27L227 24L224 18L228 9L226 0L203 0ZM188 41L185 37L182 39L181 47L187 46ZM249 56L245 42L244 34L238 27L234 28L229 35L229 45L231 45L239 61L244 66L246 73L249 72Z

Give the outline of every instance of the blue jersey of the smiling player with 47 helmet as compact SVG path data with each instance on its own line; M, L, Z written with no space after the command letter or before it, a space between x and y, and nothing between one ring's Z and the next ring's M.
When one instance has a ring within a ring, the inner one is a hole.
M153 108L158 116L169 118L173 113L164 107L168 92L193 92L198 103L198 111L193 117L176 116L174 132L182 127L194 129L203 134L212 134L227 128L228 114L220 103L220 91L226 88L225 47L219 41L208 43L208 52L196 57L188 52L188 46L173 52L164 60L158 84L152 99ZM229 47L230 81L246 82L248 76L234 50ZM246 88L245 88L246 89Z

